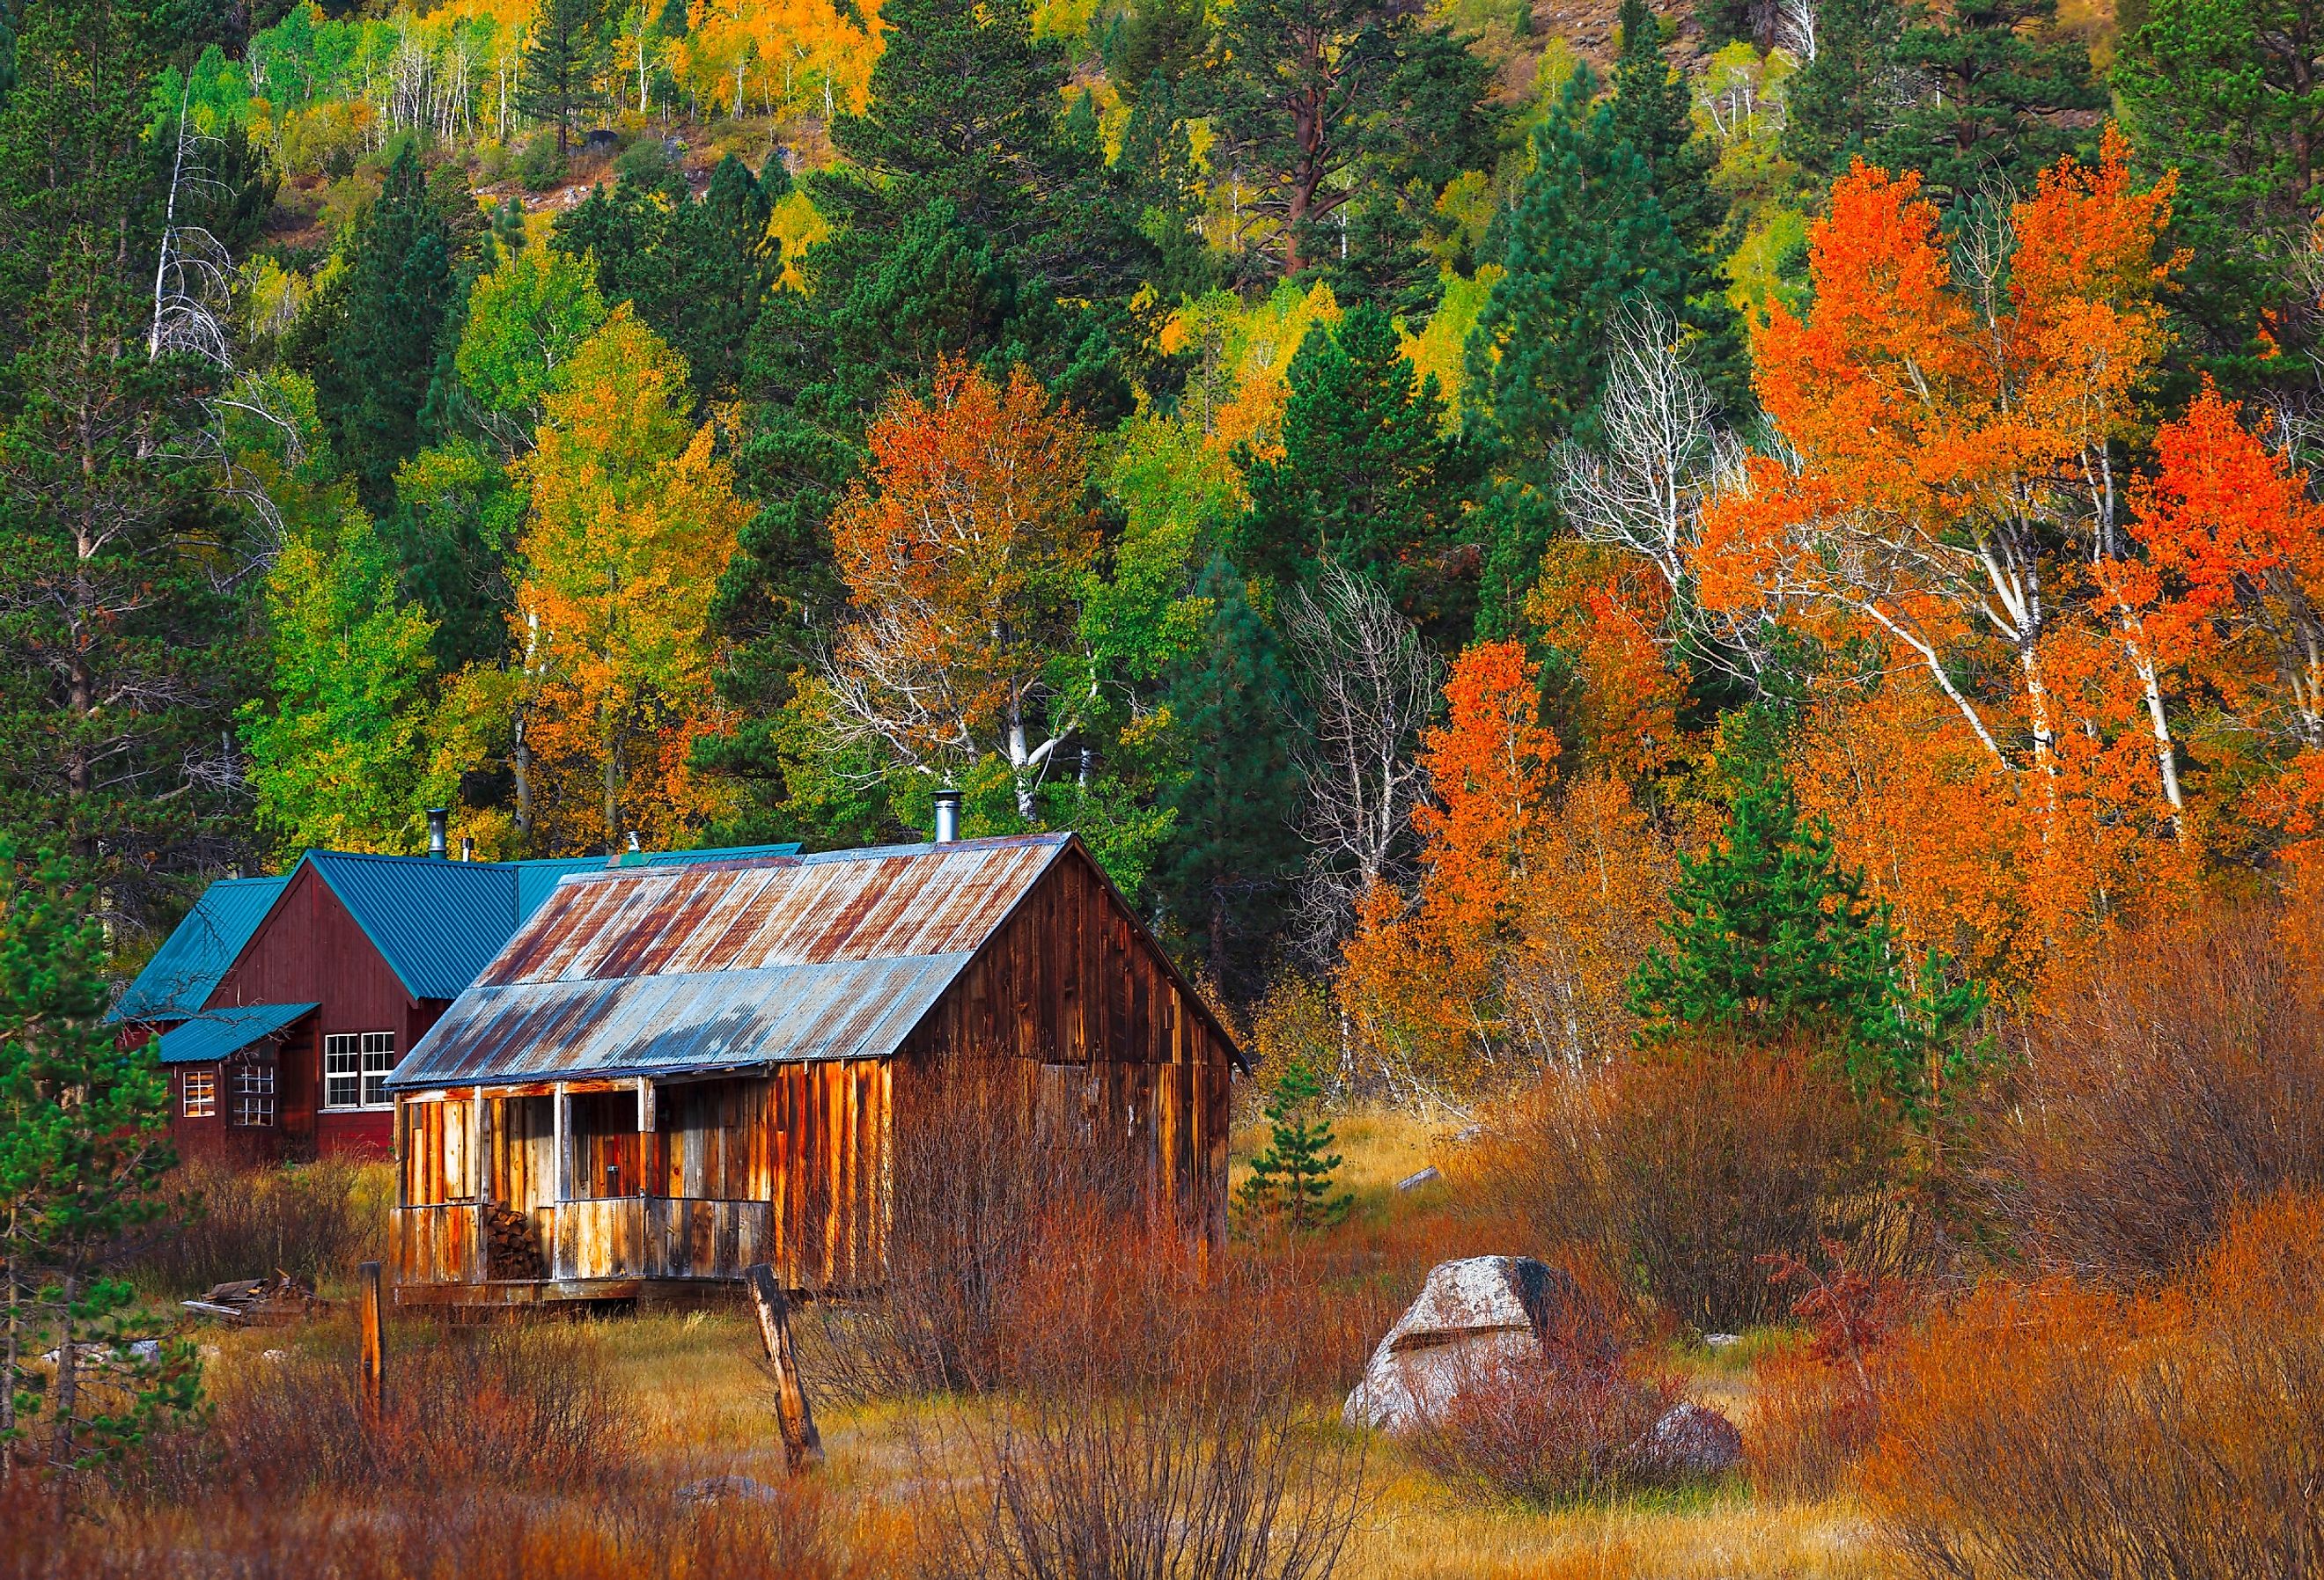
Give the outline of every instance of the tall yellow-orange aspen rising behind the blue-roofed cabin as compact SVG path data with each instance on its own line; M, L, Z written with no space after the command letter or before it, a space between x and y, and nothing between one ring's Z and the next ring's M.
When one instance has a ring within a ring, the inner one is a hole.
M637 830L669 843L720 806L688 767L720 727L711 685L711 592L746 509L709 428L688 418L686 360L614 309L546 395L509 616L525 655L511 706L551 771L586 771L595 816L544 816L537 841L618 848ZM546 811L546 809L544 809Z

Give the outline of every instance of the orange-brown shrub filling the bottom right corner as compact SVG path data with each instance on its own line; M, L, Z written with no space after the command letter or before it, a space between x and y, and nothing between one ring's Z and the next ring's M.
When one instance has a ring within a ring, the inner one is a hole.
M2180 1283L1987 1285L1889 1366L1862 1487L1945 1580L2324 1568L2324 1199L2240 1213Z

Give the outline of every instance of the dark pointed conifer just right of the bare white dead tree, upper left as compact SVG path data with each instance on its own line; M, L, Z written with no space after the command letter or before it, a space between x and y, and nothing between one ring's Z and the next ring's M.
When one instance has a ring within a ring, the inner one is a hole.
M449 372L460 318L451 225L407 142L356 225L346 270L284 346L290 365L314 379L332 451L365 509L393 507L395 467L432 437L423 414Z

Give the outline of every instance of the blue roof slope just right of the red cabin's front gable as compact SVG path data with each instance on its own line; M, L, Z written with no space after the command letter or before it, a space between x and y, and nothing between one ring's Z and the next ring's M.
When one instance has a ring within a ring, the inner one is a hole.
M516 932L516 871L502 862L309 850L316 874L416 999L451 999Z

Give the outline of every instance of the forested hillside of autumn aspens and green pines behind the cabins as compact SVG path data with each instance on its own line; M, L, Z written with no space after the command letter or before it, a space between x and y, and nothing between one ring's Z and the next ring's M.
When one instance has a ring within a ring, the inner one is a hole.
M957 785L1357 1087L1757 1015L1766 904L1934 1101L2312 869L2312 23L21 0L7 836L130 967Z

